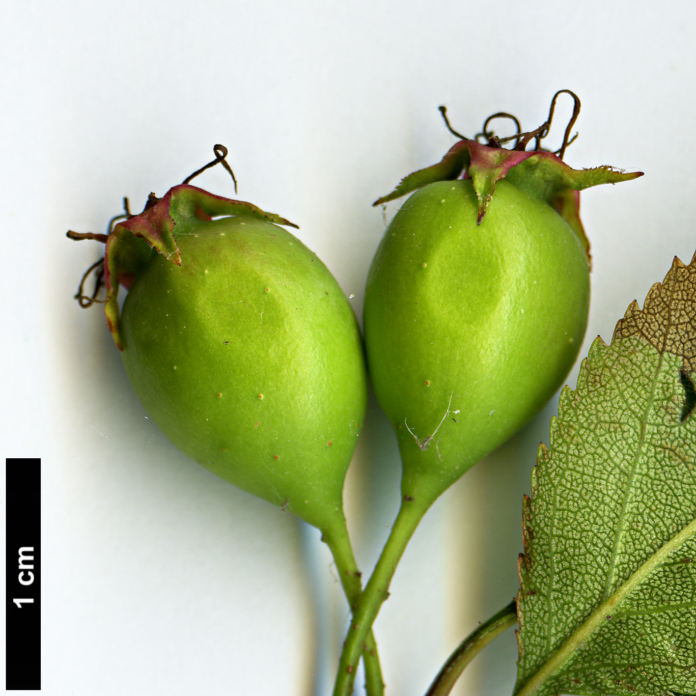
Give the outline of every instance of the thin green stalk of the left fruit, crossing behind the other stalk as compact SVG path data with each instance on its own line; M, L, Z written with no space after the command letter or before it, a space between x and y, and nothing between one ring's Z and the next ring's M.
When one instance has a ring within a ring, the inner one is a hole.
M322 532L322 539L329 546L329 551L333 556L333 562L338 571L343 592L348 600L351 612L354 612L363 594L361 583L361 572L353 555L353 548L348 537L348 530L345 523L342 526ZM384 682L382 671L379 665L379 655L377 654L377 642L374 640L372 630L365 636L363 644L363 664L365 665L365 691L367 696L383 696Z

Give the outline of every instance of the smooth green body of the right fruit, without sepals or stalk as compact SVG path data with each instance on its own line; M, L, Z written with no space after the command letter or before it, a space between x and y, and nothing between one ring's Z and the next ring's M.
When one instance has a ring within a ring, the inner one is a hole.
M416 191L367 278L370 377L399 441L402 493L420 502L535 416L587 326L589 270L567 223L505 180L480 226L477 208L470 180Z

